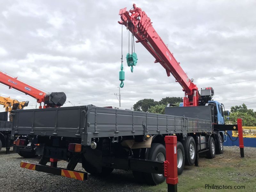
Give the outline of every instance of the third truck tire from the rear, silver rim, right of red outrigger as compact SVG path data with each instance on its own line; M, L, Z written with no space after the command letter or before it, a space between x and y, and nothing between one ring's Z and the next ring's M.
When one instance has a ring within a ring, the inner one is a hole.
M185 143L185 165L192 166L196 161L196 142L193 137L188 136Z

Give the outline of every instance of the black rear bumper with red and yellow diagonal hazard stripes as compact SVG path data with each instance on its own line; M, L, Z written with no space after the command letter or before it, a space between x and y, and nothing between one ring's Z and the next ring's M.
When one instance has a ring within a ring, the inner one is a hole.
M35 170L38 172L45 172L45 173L50 173L53 175L60 175L63 177L73 178L73 179L82 180L82 181L87 179L86 172L69 171L67 169L63 169L63 168L59 168L59 167L51 167L48 165L40 165L40 164L28 163L28 162L21 161L20 167L30 169L30 170Z

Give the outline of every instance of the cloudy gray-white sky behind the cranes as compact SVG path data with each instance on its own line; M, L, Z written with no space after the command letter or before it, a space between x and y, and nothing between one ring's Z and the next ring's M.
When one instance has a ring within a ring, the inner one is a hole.
M119 101L121 8L135 3L199 89L214 100L256 110L256 1L1 1L0 70L44 92L65 92L64 106ZM121 107L138 100L183 97L175 78L140 43L133 73L124 62ZM123 55L128 31L123 28ZM0 84L0 95L35 108L36 100ZM254 98L253 98L254 97ZM248 99L251 98L251 99ZM37 104L38 107L38 104ZM0 111L4 108L0 106Z

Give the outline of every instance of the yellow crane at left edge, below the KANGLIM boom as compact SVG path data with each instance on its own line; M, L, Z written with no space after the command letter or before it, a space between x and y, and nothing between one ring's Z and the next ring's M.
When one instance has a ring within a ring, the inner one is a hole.
M29 101L18 101L16 99L11 99L10 97L0 96L0 105L3 105L5 111L10 112L11 110L23 109L28 106Z

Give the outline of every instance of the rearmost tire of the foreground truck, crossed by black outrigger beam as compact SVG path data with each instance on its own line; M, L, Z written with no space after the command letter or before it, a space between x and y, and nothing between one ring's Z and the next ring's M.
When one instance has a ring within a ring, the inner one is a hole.
M152 143L151 148L148 151L148 159L149 160L157 160L157 161L165 161L165 147L160 143ZM145 181L148 185L157 185L159 183L164 182L165 177L162 174L156 173L144 173Z

